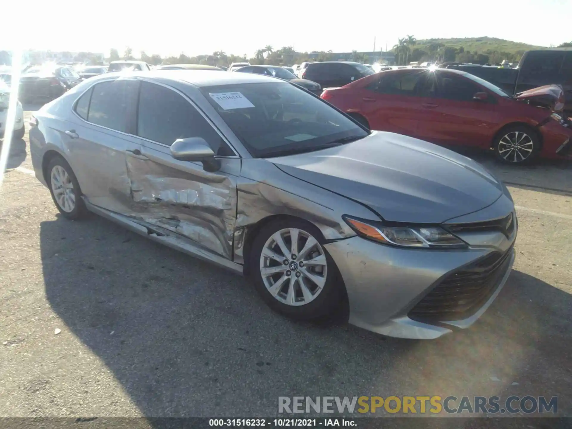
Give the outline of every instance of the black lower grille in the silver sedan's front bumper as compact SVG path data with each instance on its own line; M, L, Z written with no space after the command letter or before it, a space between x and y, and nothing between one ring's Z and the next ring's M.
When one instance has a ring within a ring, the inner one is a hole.
M462 320L474 315L491 297L509 268L511 247L492 252L452 273L436 285L409 312L419 321Z

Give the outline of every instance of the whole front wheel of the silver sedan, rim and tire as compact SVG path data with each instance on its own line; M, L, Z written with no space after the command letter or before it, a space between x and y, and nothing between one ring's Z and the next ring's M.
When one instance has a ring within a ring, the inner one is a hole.
M249 263L256 291L269 307L296 320L319 319L339 308L343 284L323 244L320 231L303 220L261 229Z

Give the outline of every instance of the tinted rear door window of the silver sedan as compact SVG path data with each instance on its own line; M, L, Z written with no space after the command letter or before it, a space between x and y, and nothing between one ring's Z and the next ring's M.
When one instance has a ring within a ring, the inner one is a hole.
M122 79L94 85L88 121L112 130L128 132L128 112L137 84L137 81Z

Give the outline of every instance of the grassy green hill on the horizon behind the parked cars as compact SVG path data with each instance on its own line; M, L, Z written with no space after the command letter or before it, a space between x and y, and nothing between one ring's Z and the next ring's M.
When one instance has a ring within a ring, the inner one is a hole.
M511 54L517 51L526 51L531 49L546 49L546 46L534 46L527 43L513 42L505 39L498 39L495 37L464 37L452 39L425 39L418 40L415 48L427 50L427 46L431 43L441 43L445 46L459 48L463 46L464 50L471 52L484 53L487 50L507 52Z

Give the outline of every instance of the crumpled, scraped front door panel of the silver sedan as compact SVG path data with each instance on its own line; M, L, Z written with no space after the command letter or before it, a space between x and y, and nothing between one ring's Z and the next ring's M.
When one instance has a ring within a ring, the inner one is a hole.
M240 159L221 158L209 173L201 162L175 160L170 148L141 139L126 151L132 217L232 259Z

